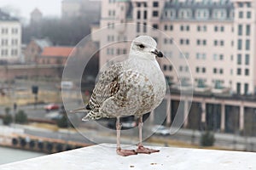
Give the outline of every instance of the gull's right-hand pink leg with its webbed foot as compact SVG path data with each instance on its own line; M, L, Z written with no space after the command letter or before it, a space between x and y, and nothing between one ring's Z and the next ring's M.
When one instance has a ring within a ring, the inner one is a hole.
M138 118L138 128L139 128L139 144L137 144L136 152L139 154L151 154L154 152L159 152L160 150L153 150L145 148L143 146L143 116Z

